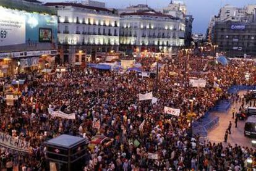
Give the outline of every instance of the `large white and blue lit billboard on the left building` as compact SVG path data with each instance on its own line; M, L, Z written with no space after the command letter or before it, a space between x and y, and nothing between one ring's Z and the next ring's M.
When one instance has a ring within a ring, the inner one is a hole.
M0 7L0 46L57 43L58 18Z

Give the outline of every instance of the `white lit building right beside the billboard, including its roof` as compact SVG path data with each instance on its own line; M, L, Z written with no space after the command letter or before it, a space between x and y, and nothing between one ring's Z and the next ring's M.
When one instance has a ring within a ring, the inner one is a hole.
M117 12L83 4L46 3L58 10L58 44L63 62L86 62L87 55L118 51L119 15Z

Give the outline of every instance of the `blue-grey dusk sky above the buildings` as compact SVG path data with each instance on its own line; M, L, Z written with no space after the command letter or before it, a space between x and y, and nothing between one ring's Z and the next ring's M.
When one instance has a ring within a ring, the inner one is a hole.
M65 2L65 0L46 0L47 2ZM71 0L72 1L72 0ZM79 0L80 1L80 0ZM79 2L78 1L78 2ZM171 0L99 0L106 2L107 7L124 8L130 5L145 4L152 8L167 6ZM217 15L218 10L225 4L243 7L247 4L256 4L256 0L184 0L189 15L193 15L193 32L206 33L211 15Z

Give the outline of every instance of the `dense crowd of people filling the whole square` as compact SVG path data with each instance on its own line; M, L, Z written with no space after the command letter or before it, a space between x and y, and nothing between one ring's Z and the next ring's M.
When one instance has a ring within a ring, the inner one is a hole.
M137 62L142 70L149 71L156 60L144 58ZM254 84L255 62L209 64L208 59L194 56L159 62L158 79L140 77L136 72L119 74L72 67L62 77L32 75L20 88L22 96L14 106L1 103L0 120L0 131L29 141L31 151L20 154L1 148L1 168L19 164L23 170L48 170L43 142L65 133L88 140L100 134L113 140L107 148L88 148L89 160L83 170L246 169L247 159L256 159L254 149L200 141L191 133L191 123L202 118L218 100L229 98L229 86ZM249 79L245 79L247 73ZM192 77L205 79L207 85L192 87ZM11 80L2 78L6 83ZM151 91L158 98L156 103L139 101L139 93ZM164 106L181 109L181 114L164 114ZM75 113L76 119L52 117L48 108ZM192 117L188 117L191 113ZM95 128L98 120L100 128ZM142 122L145 124L140 127ZM157 154L157 159L150 159L148 153Z

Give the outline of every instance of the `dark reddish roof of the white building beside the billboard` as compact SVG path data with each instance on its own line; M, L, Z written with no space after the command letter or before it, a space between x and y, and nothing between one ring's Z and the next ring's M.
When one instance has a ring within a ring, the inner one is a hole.
M98 11L105 11L105 12L112 12L109 9L102 8L102 7L94 7L94 6L85 6L83 4L79 3L70 3L70 2L47 2L45 6L72 6L72 7L80 7L85 9L92 9L92 10L98 10Z

